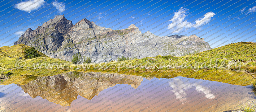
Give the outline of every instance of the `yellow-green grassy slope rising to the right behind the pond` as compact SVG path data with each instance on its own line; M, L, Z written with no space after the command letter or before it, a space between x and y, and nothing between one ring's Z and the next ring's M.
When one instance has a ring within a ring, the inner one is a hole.
M157 78L184 76L187 78L205 79L236 85L250 85L255 81L253 76L256 75L255 53L256 43L239 42L182 57L156 56L122 62L92 64L90 69L81 69L81 71L119 72L122 74ZM216 62L217 66L214 67ZM233 63L230 67L228 67L229 62ZM138 64L142 65L138 66ZM152 68L147 68L150 64L152 64ZM165 67L161 68L164 64ZM178 65L175 67L166 67L166 65L172 64ZM118 71L117 66L112 65L121 65L120 71ZM127 68L126 65L137 65L138 67ZM95 69L94 66L102 66L103 69Z

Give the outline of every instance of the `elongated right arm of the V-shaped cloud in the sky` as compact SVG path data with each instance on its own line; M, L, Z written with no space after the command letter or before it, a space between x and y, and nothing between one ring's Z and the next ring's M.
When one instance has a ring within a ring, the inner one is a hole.
M213 17L213 15L215 15L213 12L208 12L208 13L204 14L203 18L196 20L196 24L194 25L194 27L197 28L197 27L200 27L201 25L209 22L211 20L211 18Z

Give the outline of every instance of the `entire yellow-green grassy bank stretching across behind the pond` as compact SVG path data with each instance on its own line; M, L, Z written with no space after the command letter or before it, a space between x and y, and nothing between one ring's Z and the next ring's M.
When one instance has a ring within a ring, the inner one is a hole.
M26 84L38 76L68 71L118 72L157 78L184 76L236 85L249 85L255 81L253 77L256 75L256 43L252 42L232 43L182 57L156 56L78 66L65 60L49 58L38 51L36 53L39 55L32 55L28 59L26 52L34 50L23 44L1 47L0 50L1 74L9 77L3 79L2 84ZM26 65L17 68L18 62L26 62Z

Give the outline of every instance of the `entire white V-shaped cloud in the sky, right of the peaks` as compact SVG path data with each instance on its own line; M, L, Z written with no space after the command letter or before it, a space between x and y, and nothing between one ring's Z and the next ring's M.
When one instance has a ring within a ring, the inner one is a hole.
M172 29L173 33L178 33L184 28L189 28L191 26L197 28L202 24L205 24L211 20L211 18L215 15L213 12L208 12L204 14L203 18L197 19L194 23L187 22L185 18L187 17L188 10L186 8L181 7L178 12L174 12L174 16L172 17L172 23L168 25L168 29Z

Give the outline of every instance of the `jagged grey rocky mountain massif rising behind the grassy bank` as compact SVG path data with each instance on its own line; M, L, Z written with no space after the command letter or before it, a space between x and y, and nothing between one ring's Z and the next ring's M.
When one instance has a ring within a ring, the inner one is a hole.
M87 19L73 25L64 15L56 16L34 31L27 29L14 45L19 43L67 61L80 52L82 56L90 56L95 63L117 60L121 56L140 59L157 55L183 56L188 52L211 49L204 39L195 35L158 37L151 32L142 34L134 24L113 30Z

